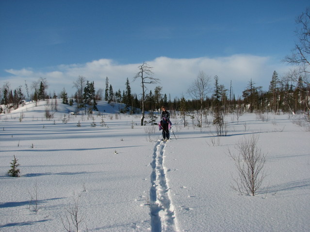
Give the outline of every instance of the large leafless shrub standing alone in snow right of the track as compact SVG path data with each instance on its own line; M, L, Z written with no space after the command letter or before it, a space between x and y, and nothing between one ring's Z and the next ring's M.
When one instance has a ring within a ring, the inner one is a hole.
M233 178L234 185L231 187L241 195L246 192L254 196L266 176L263 170L266 155L257 147L258 139L258 136L253 135L240 140L236 145L237 155L228 150L238 171L238 177Z

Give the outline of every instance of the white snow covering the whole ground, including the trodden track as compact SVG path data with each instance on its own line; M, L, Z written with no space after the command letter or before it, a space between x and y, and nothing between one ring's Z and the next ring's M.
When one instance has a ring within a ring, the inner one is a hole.
M74 206L81 232L309 231L310 132L292 116L228 115L227 136L217 137L214 126L184 128L174 115L176 139L163 142L157 126L149 137L141 115L117 104L100 101L101 115L88 117L60 102L50 120L45 101L0 115L1 232L63 232L66 215L75 231ZM268 174L255 196L230 187L228 149L251 135ZM13 155L19 178L6 174Z

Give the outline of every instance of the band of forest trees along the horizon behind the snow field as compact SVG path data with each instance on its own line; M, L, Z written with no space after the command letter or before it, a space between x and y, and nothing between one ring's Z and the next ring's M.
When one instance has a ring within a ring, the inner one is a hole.
M297 74L299 76L295 77ZM154 90L149 92L145 91L144 96L131 93L128 78L123 91L118 89L114 92L108 77L106 77L105 90L99 89L96 91L94 81L89 81L82 76L79 76L73 83L76 88L74 96L68 97L65 88L59 95L54 93L53 96L49 96L46 93L48 82L45 78L40 78L38 81L33 82L31 87L33 93L30 96L26 82L26 94L23 93L22 86L13 91L9 88L9 83L5 83L1 90L1 104L16 109L19 105L22 105L22 100L28 97L31 97L35 102L46 98L61 98L64 104L72 105L73 101L75 101L78 108L84 108L85 111L91 112L98 110L97 101L104 100L108 103L123 103L125 106L124 112L135 113L137 109L142 110L142 101L144 100L146 111L156 111L162 105L170 110L178 111L200 111L204 109L216 114L217 120L221 117L220 112L225 114L233 113L236 110L261 113L289 112L293 114L309 112L310 84L307 73L304 73L304 76L297 72L290 73L280 79L277 72L274 71L267 91L263 91L262 87L257 86L251 79L245 86L242 97L238 99L231 93L231 86L226 88L219 83L219 77L213 77L213 81L212 84L212 78L200 71L192 86L188 89L190 99L185 99L184 96L171 99L170 95L168 97L166 93L162 93L162 86L156 86ZM203 86L205 86L205 90L199 90Z

